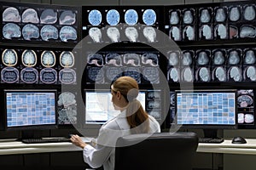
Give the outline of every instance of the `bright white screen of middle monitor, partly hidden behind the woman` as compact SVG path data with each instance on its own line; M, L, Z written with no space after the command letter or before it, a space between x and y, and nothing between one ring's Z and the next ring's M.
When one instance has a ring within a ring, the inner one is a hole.
M85 99L85 124L103 124L115 116L118 116L120 111L113 108L111 101L112 94L109 89L105 90L84 90ZM140 91L137 99L145 109L146 92Z

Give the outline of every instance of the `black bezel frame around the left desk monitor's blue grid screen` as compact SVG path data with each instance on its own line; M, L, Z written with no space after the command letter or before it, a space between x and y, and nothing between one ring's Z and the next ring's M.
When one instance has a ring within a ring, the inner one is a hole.
M55 123L53 124L41 124L41 125L22 125L22 126L15 126L15 127L8 127L7 121L7 100L6 95L8 93L54 93L55 94ZM58 128L58 110L57 110L57 89L4 89L3 90L4 96L4 127L6 131L15 131L15 130L49 130L49 129L57 129Z

